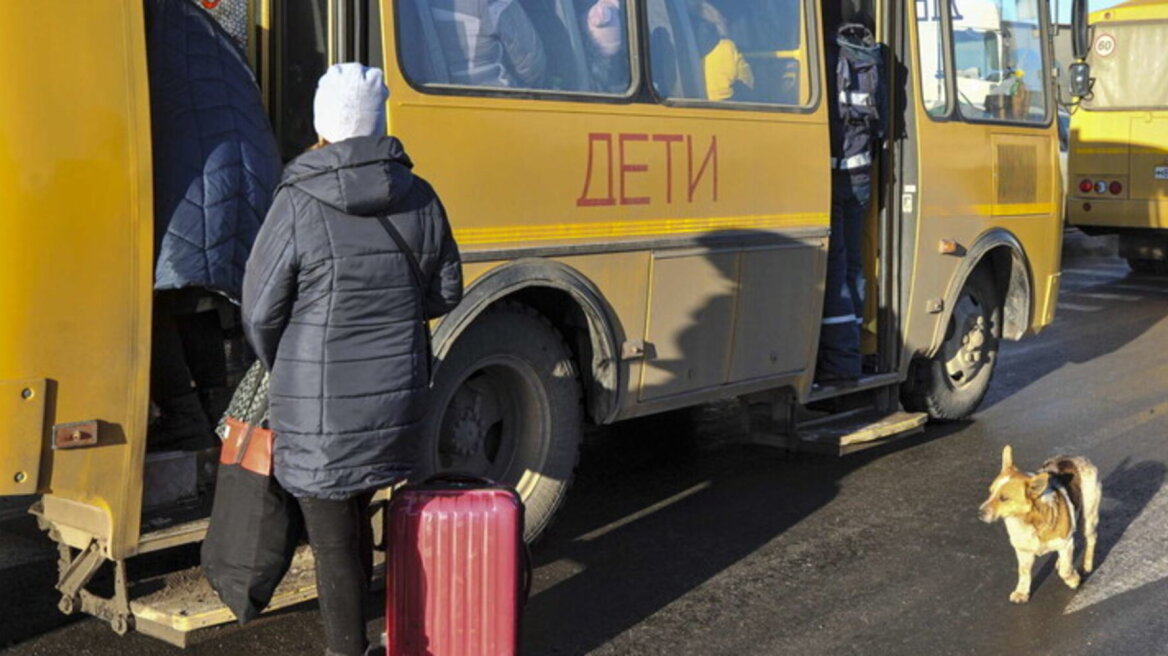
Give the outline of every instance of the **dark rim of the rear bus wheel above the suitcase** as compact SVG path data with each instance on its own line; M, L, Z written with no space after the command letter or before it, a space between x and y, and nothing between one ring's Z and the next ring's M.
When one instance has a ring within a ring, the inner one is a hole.
M442 421L431 470L463 472L513 486L527 498L548 456L550 402L523 360L495 356L438 399Z

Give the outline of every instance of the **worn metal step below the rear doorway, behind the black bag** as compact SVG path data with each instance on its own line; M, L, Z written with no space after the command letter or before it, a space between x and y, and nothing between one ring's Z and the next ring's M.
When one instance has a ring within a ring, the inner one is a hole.
M374 551L374 571L382 572L383 563L384 553ZM381 580L375 581L375 587L381 585ZM151 591L142 596L132 595L135 598L130 609L134 614L135 630L175 647L189 647L203 629L235 622L235 614L223 606L200 567L135 582L134 587ZM301 545L264 614L315 598L315 559L308 545Z

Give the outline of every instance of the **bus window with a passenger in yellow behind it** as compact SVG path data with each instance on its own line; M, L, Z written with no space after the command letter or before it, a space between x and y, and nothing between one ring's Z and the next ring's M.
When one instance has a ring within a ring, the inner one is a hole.
M800 0L651 0L653 88L665 98L811 102Z

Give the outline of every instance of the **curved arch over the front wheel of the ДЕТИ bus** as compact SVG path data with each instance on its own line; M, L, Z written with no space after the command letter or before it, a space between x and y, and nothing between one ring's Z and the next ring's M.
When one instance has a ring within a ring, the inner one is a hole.
M1021 340L1030 327L1034 312L1034 277L1030 259L1022 243L1010 231L994 228L983 232L966 252L953 273L945 292L944 312L933 329L933 339L925 357L933 357L945 340L945 328L953 315L953 306L969 275L979 267L989 268L1002 299L1002 337Z

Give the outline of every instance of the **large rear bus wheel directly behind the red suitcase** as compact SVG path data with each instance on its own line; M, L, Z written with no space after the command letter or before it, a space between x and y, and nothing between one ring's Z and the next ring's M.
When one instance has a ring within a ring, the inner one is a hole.
M436 371L422 473L461 472L515 488L534 540L563 503L580 442L571 350L519 303L485 312Z

